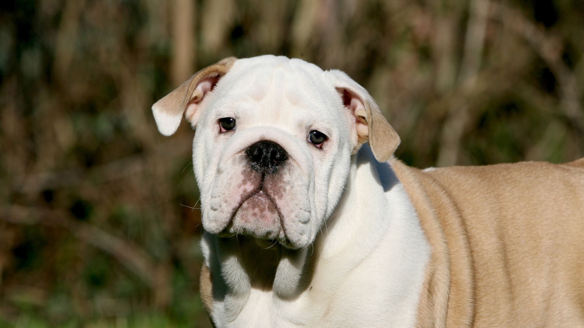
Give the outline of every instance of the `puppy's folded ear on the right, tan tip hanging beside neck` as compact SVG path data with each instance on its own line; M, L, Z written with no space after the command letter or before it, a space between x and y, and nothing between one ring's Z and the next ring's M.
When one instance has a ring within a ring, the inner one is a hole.
M345 109L355 120L357 140L353 153L356 153L364 142L369 141L371 151L378 161L385 162L390 159L398 148L399 135L387 122L373 97L345 72L336 69L328 72L333 76L333 83Z

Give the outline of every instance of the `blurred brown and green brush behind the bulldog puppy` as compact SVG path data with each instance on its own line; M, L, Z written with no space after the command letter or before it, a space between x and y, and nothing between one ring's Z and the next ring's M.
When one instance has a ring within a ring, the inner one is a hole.
M339 68L425 168L584 156L582 0L3 0L0 327L208 327L193 131L150 106L235 55Z

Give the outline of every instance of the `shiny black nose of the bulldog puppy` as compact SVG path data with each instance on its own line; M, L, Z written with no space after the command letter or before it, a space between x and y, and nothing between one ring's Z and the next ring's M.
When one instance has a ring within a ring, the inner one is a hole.
M252 169L269 175L276 172L278 164L288 159L288 154L276 142L269 140L258 141L245 150L252 160Z

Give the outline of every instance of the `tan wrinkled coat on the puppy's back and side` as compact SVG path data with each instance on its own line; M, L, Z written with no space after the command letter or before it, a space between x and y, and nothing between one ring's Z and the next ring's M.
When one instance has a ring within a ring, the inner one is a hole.
M392 166L433 248L419 327L584 326L584 159Z

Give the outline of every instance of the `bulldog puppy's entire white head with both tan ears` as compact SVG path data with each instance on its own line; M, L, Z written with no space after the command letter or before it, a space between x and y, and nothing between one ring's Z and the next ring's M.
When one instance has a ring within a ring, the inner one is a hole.
M312 243L369 140L377 160L399 137L369 93L341 71L265 55L225 58L152 106L159 131L196 128L203 227L219 236Z

